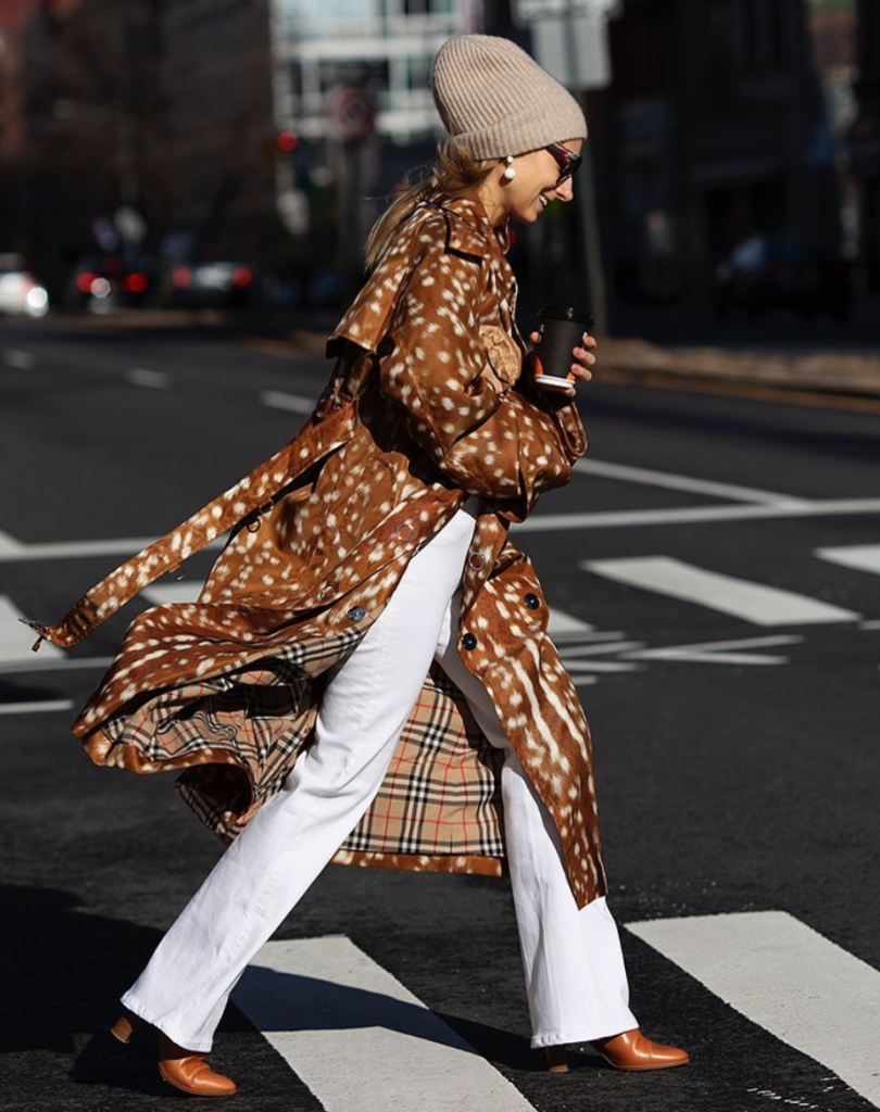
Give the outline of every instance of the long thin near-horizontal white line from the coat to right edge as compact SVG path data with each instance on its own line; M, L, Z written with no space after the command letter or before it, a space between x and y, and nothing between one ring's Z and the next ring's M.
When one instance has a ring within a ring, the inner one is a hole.
M621 529L641 525L700 525L704 522L750 522L781 517L837 517L876 514L880 498L830 498L823 502L770 506L680 506L675 509L622 509L597 514L535 514L512 526L516 533L573 529Z

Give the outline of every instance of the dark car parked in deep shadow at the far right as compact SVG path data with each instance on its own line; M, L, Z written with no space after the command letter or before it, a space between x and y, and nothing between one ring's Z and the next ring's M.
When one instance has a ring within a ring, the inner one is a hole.
M833 251L791 236L752 236L716 268L714 301L722 317L789 309L846 320L852 310L851 268Z

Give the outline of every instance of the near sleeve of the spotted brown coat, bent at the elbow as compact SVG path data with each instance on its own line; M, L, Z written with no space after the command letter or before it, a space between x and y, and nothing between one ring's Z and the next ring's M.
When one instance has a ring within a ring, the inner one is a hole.
M436 235L423 246L397 299L379 389L456 486L516 499L514 516L525 516L541 490L570 480L576 437L524 393L500 388L478 320L484 260Z

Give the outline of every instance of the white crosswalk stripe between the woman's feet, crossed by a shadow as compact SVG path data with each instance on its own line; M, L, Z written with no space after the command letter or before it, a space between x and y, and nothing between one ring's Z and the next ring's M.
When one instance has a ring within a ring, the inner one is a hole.
M534 1112L345 936L266 943L233 999L326 1112Z

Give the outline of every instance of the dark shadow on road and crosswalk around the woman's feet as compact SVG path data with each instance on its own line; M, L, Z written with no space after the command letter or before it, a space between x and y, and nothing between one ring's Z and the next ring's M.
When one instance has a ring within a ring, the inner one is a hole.
M0 885L0 906L8 955L8 1020L0 1024L0 1053L7 1062L27 1074L32 1068L39 1072L39 1063L48 1059L70 1059L69 1076L77 1083L161 1092L152 1039L123 1046L109 1034L119 995L140 973L160 932L86 913L75 895L58 890ZM544 1069L543 1054L510 1031L317 977L259 966L251 966L246 977L264 1000L273 1002L271 1022L263 1023L264 1030L385 1026L476 1053L502 1068ZM238 1006L227 1009L221 1031L256 1030ZM572 1064L594 1063L589 1056L572 1055Z

